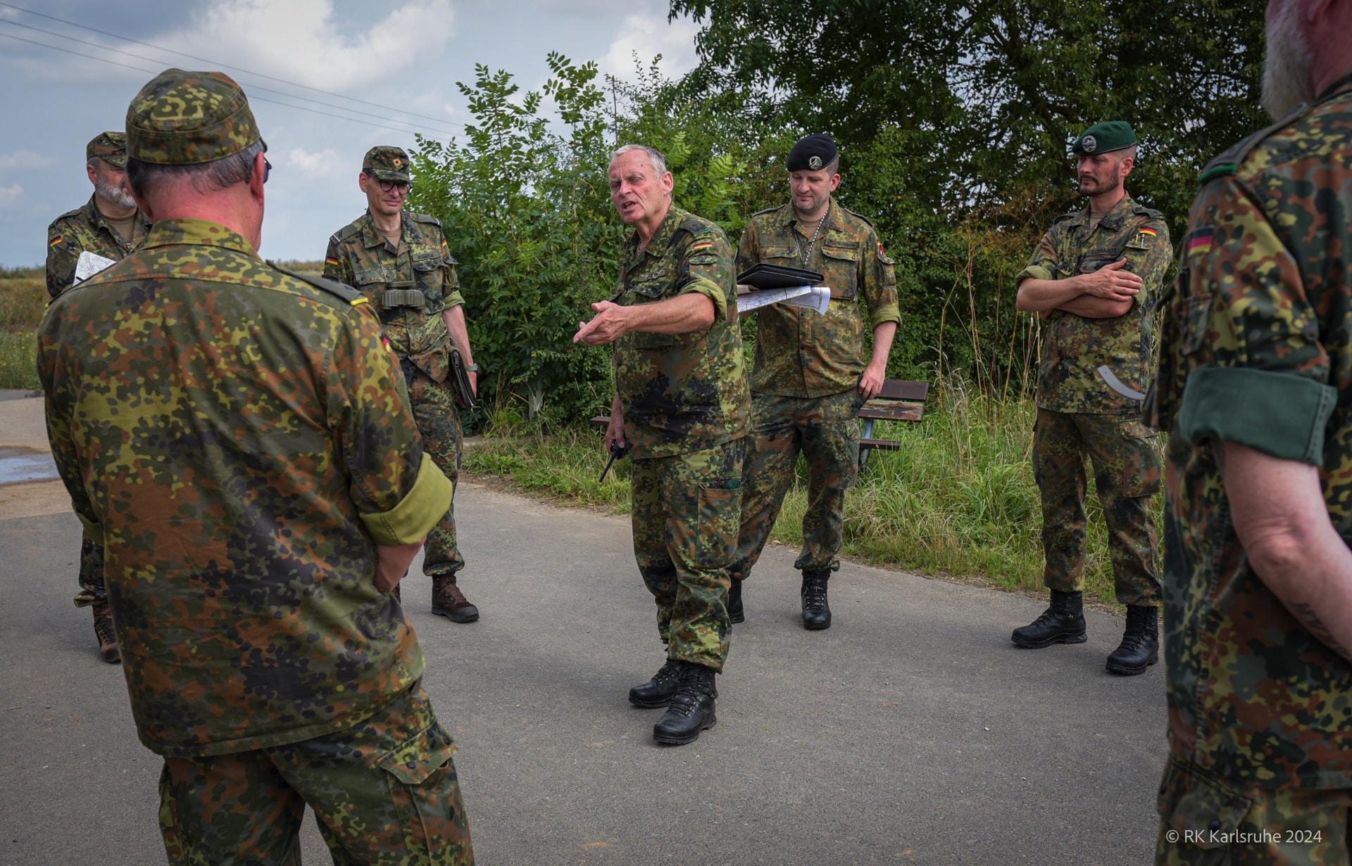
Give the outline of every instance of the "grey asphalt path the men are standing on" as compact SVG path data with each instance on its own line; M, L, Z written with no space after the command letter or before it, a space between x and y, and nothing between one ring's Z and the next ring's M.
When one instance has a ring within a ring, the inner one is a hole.
M164 863L160 759L70 603L80 526L30 477L41 440L38 401L0 401L0 477L28 461L0 484L0 862ZM664 657L627 519L473 484L456 507L481 620L433 616L416 566L403 597L480 866L1149 862L1163 666L1105 673L1119 617L1018 650L1045 603L846 562L836 624L808 632L794 551L771 547L718 725L662 747L661 711L625 700ZM301 844L329 862L308 815Z

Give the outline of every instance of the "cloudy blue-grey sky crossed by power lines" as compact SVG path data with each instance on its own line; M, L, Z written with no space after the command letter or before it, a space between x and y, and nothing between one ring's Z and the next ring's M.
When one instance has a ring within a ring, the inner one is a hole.
M0 116L8 118L0 130L0 265L43 261L47 223L93 192L85 143L123 128L127 103L168 66L222 69L241 82L273 163L261 253L318 259L329 235L365 208L357 189L361 155L373 145L411 147L411 126L449 138L466 120L456 82L472 82L475 63L506 69L523 88L538 89L549 51L598 61L602 72L626 78L634 51L645 63L660 53L662 70L675 77L695 65L698 27L668 23L667 8L665 0L0 3ZM352 111L318 103L376 116L339 120L315 112Z

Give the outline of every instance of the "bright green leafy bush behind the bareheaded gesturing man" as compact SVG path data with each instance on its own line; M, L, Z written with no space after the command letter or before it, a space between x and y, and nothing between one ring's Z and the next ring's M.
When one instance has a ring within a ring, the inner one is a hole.
M775 145L723 109L735 99L721 96L715 109L658 76L656 61L637 84L604 88L595 63L553 53L548 63L549 81L519 99L508 73L485 66L458 85L475 122L462 143L418 139L410 207L442 220L460 261L481 400L556 423L610 405L611 350L572 342L589 304L611 296L629 232L610 203L610 151L630 142L664 151L675 201L735 240L758 203L748 178ZM742 147L734 126L756 147Z

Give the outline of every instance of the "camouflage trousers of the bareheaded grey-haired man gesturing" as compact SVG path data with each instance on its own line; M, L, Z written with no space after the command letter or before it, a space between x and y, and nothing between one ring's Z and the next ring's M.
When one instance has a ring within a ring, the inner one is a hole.
M657 601L667 658L714 670L727 658L727 566L737 550L745 439L635 459L634 558Z

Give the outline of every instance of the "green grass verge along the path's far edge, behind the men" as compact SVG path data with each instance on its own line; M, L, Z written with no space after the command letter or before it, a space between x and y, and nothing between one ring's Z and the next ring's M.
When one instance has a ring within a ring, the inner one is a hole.
M1042 589L1041 508L1029 451L1033 401L986 396L945 377L930 397L925 420L883 422L875 438L895 439L899 451L873 451L845 497L842 553L867 562L934 576L976 577L1010 590ZM629 509L629 474L617 463L604 484L600 431L489 434L468 449L469 473L498 476L511 485L562 500ZM1088 512L1086 592L1114 601L1107 534L1092 493ZM1156 511L1160 503L1156 501ZM798 474L772 539L796 547L807 508L807 470Z

